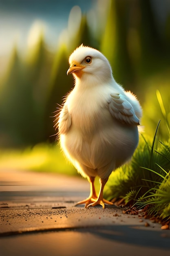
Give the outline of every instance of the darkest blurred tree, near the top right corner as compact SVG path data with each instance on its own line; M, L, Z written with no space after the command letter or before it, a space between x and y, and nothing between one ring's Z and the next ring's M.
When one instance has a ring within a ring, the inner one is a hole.
M138 27L141 44L141 68L142 73L148 76L156 70L162 69L166 51L158 33L151 1L139 0L139 8L141 12Z

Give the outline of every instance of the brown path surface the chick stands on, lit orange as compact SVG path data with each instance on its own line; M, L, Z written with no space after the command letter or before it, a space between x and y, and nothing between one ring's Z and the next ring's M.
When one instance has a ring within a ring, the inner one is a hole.
M116 206L74 206L88 194L81 177L0 170L0 255L170 255L170 230Z

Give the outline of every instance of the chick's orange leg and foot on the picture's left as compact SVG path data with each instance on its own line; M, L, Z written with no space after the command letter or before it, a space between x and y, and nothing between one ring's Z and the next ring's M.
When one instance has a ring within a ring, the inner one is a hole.
M75 204L75 206L78 204L85 204L85 208L88 208L87 206L89 204L91 204L97 200L97 195L96 195L95 185L94 185L95 177L88 177L87 179L90 182L90 188L91 188L90 195L88 198L86 198L80 202L77 202L77 204Z

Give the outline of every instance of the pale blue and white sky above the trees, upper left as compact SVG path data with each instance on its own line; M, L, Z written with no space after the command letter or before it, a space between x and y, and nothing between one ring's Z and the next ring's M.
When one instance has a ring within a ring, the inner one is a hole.
M69 13L78 5L82 13L97 0L0 0L0 56L11 52L13 44L26 48L33 25L42 25L46 43L55 47L61 31L68 25Z

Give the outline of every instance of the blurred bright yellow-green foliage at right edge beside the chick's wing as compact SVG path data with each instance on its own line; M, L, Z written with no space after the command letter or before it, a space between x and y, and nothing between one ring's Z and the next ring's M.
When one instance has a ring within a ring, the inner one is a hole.
M165 72L162 75L155 75L143 81L146 86L145 100L142 104L145 135L154 136L155 127L159 120L161 124L158 130L159 139L168 141L170 136L170 75Z

